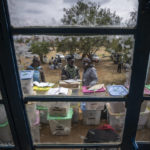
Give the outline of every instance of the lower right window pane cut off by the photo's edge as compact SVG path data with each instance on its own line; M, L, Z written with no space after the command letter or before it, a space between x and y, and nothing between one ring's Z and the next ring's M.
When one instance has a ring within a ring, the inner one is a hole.
M144 101L136 134L137 141L150 141L150 102Z

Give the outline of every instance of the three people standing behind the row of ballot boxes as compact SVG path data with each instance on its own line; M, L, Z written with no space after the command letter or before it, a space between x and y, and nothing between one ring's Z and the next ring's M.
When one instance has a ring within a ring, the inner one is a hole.
M74 65L75 59L73 55L67 56L67 64L64 66L61 72L61 80L68 79L80 79L79 69ZM33 80L45 82L45 75L42 67L40 66L40 61L37 57L33 58L32 64L27 68L28 70L34 70ZM82 85L91 87L98 82L98 77L96 69L94 68L91 59L83 59L83 75L82 75Z

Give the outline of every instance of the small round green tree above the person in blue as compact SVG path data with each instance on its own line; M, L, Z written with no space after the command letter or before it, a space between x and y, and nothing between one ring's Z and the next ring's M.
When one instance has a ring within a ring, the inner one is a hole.
M43 63L43 56L49 52L49 46L50 46L49 42L34 41L33 43L31 43L29 51L32 52L33 54L38 54L41 62Z

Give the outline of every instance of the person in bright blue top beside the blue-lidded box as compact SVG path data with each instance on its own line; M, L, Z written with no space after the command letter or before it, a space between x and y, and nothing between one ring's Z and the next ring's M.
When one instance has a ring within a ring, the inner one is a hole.
M28 66L27 70L34 70L33 81L45 82L43 69L40 66L40 61L36 56L33 57L32 64Z

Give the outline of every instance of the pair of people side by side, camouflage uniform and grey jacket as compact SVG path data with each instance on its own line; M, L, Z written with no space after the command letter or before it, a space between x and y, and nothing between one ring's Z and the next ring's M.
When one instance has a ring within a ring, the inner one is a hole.
M75 59L73 55L68 55L67 65L63 68L61 73L61 79L80 79L79 69L74 65ZM91 59L83 59L83 75L82 85L91 87L98 82L96 69L94 68Z

